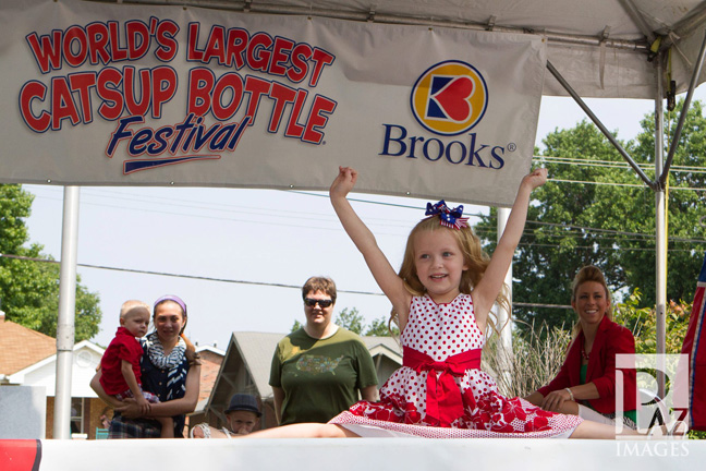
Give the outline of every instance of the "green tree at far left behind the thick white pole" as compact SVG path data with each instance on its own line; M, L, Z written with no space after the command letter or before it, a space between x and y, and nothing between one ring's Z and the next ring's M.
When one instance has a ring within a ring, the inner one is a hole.
M40 244L28 244L25 218L34 196L20 185L0 185L0 253L51 261ZM12 321L27 328L56 337L59 312L59 265L51 262L0 257L0 302ZM76 341L94 337L101 312L97 293L76 285Z

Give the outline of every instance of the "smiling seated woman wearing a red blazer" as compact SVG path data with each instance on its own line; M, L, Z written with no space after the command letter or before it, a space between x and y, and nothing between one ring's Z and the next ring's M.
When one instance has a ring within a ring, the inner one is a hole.
M614 423L616 355L635 353L632 333L611 319L610 292L602 273L583 267L572 283L571 305L579 315L567 359L551 383L526 399L545 410ZM635 370L621 370L623 422L635 428Z

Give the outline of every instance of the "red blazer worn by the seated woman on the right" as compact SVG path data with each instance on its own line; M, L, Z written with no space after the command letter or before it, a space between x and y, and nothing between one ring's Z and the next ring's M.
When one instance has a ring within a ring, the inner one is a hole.
M581 346L584 342L584 334L569 346L567 359L561 370L551 383L539 388L543 396L553 390L579 386L581 381ZM608 317L604 317L598 325L596 338L591 351L588 367L586 370L586 383L593 383L600 395L598 399L588 399L588 402L596 411L608 414L616 412L616 354L635 353L635 338L632 333L623 326L616 324ZM636 374L634 369L621 370L623 374L624 395L623 404L625 411L635 410L636 407Z

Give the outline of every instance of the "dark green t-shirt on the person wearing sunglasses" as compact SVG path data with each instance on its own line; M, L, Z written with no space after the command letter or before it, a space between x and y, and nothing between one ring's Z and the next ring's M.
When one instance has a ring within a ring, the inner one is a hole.
M357 335L339 327L315 339L301 328L277 345L269 384L284 390L282 425L326 423L358 400L358 389L377 385L377 374Z

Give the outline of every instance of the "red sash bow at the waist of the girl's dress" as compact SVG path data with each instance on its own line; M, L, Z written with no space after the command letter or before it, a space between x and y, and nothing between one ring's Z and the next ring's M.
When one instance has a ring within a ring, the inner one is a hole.
M461 389L453 377L463 376L466 370L478 370L480 353L480 349L467 350L437 362L426 353L404 347L402 364L417 373L428 372L425 422L448 427L463 415ZM436 372L441 372L438 378ZM475 408L475 401L472 406Z

